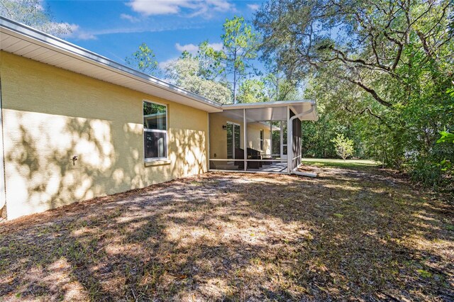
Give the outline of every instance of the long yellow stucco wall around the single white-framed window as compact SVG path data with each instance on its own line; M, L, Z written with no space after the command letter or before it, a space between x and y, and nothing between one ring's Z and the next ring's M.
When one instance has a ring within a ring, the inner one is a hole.
M0 60L9 219L206 172L208 113L6 52ZM170 164L144 164L143 100L168 106Z

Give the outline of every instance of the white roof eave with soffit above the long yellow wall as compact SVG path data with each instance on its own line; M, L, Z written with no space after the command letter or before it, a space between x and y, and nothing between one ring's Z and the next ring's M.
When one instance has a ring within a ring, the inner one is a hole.
M215 101L1 16L0 50L207 112L222 111Z

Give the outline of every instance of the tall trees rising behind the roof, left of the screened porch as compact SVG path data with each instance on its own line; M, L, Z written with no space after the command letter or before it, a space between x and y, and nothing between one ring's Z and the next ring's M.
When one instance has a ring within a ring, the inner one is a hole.
M222 50L214 50L209 41L205 40L199 44L196 55L184 51L180 57L181 62L177 64L172 62L165 68L167 77L185 89L201 93L203 96L210 96L210 99L223 104L232 101L251 103L269 100L273 89L270 79L268 77L251 79L252 75L260 74L253 65L253 60L258 57L260 44L258 33L246 23L244 18L235 16L232 19L226 19L221 39ZM197 65L195 69L194 64ZM228 79L231 79L231 84L228 83ZM292 82L282 84L285 95L291 95L290 92L296 90L291 85ZM209 91L210 89L212 91ZM226 93L226 89L230 89L231 93ZM227 96L230 99L226 99Z

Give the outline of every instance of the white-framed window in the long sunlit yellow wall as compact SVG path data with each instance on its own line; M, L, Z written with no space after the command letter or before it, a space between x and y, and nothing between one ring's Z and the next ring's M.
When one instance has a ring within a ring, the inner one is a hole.
M143 101L145 161L167 158L167 106Z

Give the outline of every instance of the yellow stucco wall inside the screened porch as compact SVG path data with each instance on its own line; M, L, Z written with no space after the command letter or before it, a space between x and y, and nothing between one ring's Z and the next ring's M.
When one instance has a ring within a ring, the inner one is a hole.
M223 113L210 113L210 158L226 159L227 158L227 131L223 130L222 125L227 122L237 123L240 125L240 147L244 145L243 121L227 118ZM248 123L247 141L248 147L260 150L260 130L264 130L264 142L262 153L270 154L270 126L261 123ZM215 156L216 155L216 156Z

